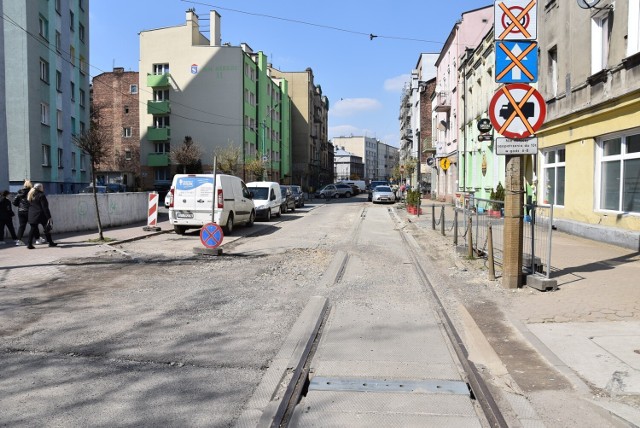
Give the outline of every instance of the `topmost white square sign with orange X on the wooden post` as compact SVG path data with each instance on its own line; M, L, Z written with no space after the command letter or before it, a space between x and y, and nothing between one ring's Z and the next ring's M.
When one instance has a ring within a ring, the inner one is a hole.
M538 38L537 0L502 0L494 3L496 40Z

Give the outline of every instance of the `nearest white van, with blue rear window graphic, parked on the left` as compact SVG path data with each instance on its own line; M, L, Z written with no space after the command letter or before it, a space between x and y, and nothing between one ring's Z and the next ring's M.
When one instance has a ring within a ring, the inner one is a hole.
M216 174L215 201L213 174L176 174L171 183L169 222L182 235L187 229L199 229L212 221L225 235L236 224L253 226L256 210L251 193L239 177Z

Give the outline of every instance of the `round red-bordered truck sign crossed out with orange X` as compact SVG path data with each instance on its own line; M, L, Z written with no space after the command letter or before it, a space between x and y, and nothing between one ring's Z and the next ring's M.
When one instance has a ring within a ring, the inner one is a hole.
M505 85L493 95L489 118L498 134L526 138L535 134L547 115L540 92L524 83Z

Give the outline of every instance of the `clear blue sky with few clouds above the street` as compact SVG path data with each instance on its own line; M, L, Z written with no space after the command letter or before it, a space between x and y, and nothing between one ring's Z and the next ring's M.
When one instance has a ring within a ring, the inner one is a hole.
M93 0L91 76L139 71L138 33L185 24L195 8L208 31L221 15L223 43L247 43L281 71L313 70L329 99L329 138L374 137L399 147L400 97L421 53L439 53L463 12L488 0ZM374 35L376 37L371 37Z

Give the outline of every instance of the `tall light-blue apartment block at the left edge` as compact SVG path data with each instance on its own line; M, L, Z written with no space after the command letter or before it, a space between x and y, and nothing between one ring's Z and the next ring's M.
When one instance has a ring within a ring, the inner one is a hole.
M90 180L73 144L89 126L89 1L13 0L0 12L0 182L75 193Z

